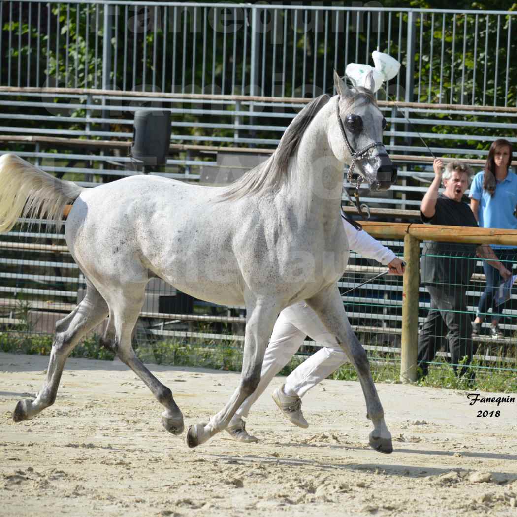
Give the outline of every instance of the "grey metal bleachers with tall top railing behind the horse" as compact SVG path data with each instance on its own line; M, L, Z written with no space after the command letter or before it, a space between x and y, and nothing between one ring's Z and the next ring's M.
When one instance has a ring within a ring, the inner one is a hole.
M378 48L403 62L378 94L399 180L382 196L361 191L361 201L378 218L415 221L433 176L417 130L435 154L478 168L490 141L517 143L509 59L517 50L515 16L368 6L0 3L0 154L15 151L84 186L140 174L128 156L134 113L166 109L171 152L154 174L227 183L272 152L310 98L333 93L334 68L343 74L349 62L368 63ZM402 254L404 235L383 232L374 236ZM84 279L64 244L44 227L2 236L0 321L7 329L51 332L75 305ZM354 255L340 286L345 291L381 270ZM400 279L391 278L344 297L371 351L399 354L402 292ZM419 298L421 321L428 303L422 286ZM138 334L239 342L244 322L239 308L203 305L159 284L149 286Z

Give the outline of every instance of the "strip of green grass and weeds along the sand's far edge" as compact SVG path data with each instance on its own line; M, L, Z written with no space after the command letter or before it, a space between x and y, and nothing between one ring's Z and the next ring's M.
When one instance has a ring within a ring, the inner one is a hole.
M34 334L27 331L0 333L0 351L14 354L49 355L52 348L52 336ZM242 349L239 342L232 340L164 340L141 341L135 345L136 354L147 363L210 368L240 372L242 367ZM99 336L92 336L79 343L71 357L87 359L113 360L114 354L101 346ZM295 355L280 371L280 375L290 374L308 355ZM390 352L371 351L370 368L374 382L399 383L400 355ZM495 393L517 392L517 376L503 361L490 368L486 363L474 360L470 368L475 371L475 380L470 383L468 375L458 377L451 365L443 358L437 357L430 365L429 375L421 379L419 386L432 386L468 391L490 391ZM511 365L513 366L513 365ZM357 372L347 363L336 370L331 379L339 381L357 381Z

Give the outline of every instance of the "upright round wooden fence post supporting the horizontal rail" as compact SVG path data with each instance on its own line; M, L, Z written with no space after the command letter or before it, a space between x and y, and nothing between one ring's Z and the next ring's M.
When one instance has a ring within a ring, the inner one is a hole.
M406 233L404 236L404 274L402 293L402 343L400 380L416 381L418 342L418 273L420 269L420 241Z

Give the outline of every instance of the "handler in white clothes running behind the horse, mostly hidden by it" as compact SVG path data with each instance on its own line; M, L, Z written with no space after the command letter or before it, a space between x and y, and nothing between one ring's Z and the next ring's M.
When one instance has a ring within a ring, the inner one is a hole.
M404 263L388 248L368 233L356 229L341 215L349 248L366 258L372 258L389 266L390 273L402 275ZM258 442L255 436L246 432L242 417L247 417L253 403L261 396L271 379L291 360L306 336L324 346L303 361L285 379L285 384L273 392L273 400L282 413L298 427L309 424L301 412L301 397L323 381L347 361L343 349L336 343L316 313L301 301L286 307L278 316L266 348L260 383L237 409L226 431L239 442Z

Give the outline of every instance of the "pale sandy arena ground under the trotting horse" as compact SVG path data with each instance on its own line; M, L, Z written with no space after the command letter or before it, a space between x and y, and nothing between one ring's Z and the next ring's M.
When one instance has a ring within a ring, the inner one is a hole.
M248 430L194 450L161 427L161 406L123 364L70 359L57 401L14 424L47 357L0 354L0 515L516 515L517 404L470 406L466 393L378 384L395 450L367 446L359 383L325 381L303 399L309 429L270 393ZM187 425L219 410L238 374L151 365ZM517 396L516 396L517 399ZM476 417L477 410L499 417Z

